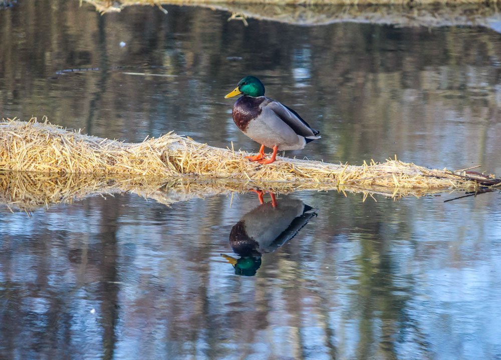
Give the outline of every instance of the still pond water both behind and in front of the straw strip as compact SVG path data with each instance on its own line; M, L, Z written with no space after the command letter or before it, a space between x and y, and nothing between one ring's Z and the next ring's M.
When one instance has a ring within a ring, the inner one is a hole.
M1 115L258 150L222 98L253 74L322 132L288 156L397 154L501 173L492 30L245 27L224 12L166 8L0 10ZM298 191L273 206L249 191L166 206L126 193L31 216L4 205L0 358L501 358L499 194L444 202L461 195Z

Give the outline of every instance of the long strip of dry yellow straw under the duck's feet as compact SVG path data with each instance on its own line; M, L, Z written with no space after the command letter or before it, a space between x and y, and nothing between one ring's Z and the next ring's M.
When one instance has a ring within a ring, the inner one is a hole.
M303 189L349 186L385 192L421 189L475 189L496 185L493 176L426 169L389 159L362 166L278 157L269 165L244 158L248 153L200 144L173 133L141 143L124 143L68 131L47 122L0 123L0 169L41 173L121 174L129 177L231 178L249 182L289 182Z

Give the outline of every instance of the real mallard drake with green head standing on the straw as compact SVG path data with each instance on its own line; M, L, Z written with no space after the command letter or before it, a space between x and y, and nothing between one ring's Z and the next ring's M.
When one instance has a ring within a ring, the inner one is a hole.
M291 108L265 96L265 86L255 76L246 76L224 98L242 94L233 105L233 121L249 138L261 144L258 155L246 156L250 161L271 164L279 150L300 150L313 140L320 139L313 129ZM265 146L273 149L270 159Z

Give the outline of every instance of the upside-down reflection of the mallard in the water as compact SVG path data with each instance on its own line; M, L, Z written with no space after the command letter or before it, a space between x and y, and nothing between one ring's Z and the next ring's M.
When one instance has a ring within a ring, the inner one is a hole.
M261 266L261 256L271 253L292 239L308 221L316 216L313 208L303 201L285 198L264 202L263 190L250 190L258 194L261 205L249 211L233 226L229 243L235 258L221 254L235 269L235 274L254 276Z

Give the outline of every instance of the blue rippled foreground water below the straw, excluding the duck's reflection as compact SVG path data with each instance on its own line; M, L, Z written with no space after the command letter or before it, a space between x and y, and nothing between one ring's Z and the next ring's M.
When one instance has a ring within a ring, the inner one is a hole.
M255 194L170 208L126 195L32 218L5 213L1 316L12 327L2 353L494 357L500 226L479 220L499 214L497 197L443 203L454 196L279 195L278 209L302 200L318 218L262 256L250 278L220 253L234 224L261 206Z

